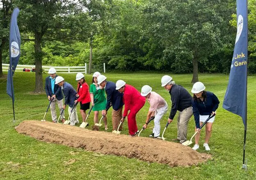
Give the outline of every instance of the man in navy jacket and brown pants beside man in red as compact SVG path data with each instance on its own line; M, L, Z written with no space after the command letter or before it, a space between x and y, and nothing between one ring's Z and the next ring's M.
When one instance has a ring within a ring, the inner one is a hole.
M106 109L102 111L103 116L107 115L107 110L110 108L112 104L113 111L112 111L112 127L113 131L117 131L119 122L122 118L122 110L123 110L123 93L120 93L116 90L116 84L111 81L107 81L107 78L104 75L98 76L98 84L101 88L105 88L107 94L107 104ZM122 130L120 126L119 131Z

